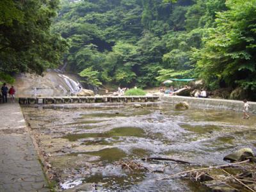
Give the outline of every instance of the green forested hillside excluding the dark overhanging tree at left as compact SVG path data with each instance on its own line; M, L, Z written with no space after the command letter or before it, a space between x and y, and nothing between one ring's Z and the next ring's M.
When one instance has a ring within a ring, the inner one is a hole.
M255 1L62 0L52 31L70 45L70 70L90 68L102 83L200 77L212 89L254 90Z

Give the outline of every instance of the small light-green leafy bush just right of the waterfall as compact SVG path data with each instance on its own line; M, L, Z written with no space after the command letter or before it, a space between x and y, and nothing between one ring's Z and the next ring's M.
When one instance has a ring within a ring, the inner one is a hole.
M92 70L92 67L85 68L79 73L79 76L84 77L85 81L82 81L84 83L92 84L94 86L99 86L102 84L98 79L99 72Z

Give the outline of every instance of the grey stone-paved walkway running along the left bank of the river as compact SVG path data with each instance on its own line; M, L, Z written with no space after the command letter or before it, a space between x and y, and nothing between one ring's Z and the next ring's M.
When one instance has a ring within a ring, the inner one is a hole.
M0 191L49 191L19 104L0 104Z

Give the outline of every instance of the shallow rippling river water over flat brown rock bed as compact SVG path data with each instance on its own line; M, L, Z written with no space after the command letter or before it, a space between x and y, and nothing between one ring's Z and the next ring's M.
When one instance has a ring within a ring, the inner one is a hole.
M196 166L225 164L236 149L255 152L256 116L171 104L67 104L22 108L53 180L63 191L209 191L186 179L159 180L188 164L141 161L170 157ZM148 170L123 170L136 161Z

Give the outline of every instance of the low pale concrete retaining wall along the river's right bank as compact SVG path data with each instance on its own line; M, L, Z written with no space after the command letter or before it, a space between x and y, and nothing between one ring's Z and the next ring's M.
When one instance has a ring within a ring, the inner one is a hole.
M210 108L210 109L226 109L234 111L243 111L243 101L241 100L224 100L224 99L203 99L195 97L180 96L163 96L160 97L162 102L177 104L182 101L188 102L191 107ZM249 112L256 113L256 102L248 102L250 105Z

